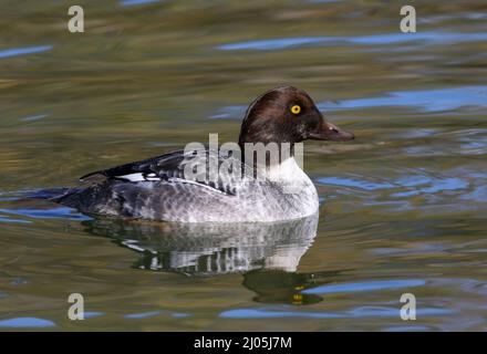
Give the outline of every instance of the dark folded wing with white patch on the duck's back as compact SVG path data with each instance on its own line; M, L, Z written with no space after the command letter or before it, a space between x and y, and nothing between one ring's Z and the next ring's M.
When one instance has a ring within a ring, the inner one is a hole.
M224 173L218 173L222 170ZM235 195L246 173L248 174L248 169L245 168L239 157L218 154L218 152L208 149L177 150L108 169L97 170L84 175L80 180L86 181L94 177L103 177L105 179L116 179L126 183L157 183L162 180L169 183L190 183L198 184L201 187L213 188L216 191Z

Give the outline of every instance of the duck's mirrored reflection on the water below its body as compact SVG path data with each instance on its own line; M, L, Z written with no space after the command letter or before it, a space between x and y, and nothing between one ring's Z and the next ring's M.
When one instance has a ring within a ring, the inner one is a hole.
M242 273L256 301L305 304L321 301L303 289L336 272L298 273L317 236L318 214L272 223L175 223L120 219L84 221L93 235L139 252L135 267L188 275Z

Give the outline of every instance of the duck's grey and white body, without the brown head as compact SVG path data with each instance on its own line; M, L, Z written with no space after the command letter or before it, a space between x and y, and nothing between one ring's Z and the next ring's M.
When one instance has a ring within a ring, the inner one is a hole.
M317 189L292 157L265 178L244 173L216 183L187 179L188 157L174 152L91 174L105 179L53 200L86 214L183 222L279 221L318 210ZM219 165L232 158L218 155Z

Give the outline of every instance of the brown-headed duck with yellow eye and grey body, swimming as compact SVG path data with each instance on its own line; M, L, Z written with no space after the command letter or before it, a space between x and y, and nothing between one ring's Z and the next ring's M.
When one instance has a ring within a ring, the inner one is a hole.
M183 150L90 173L80 178L85 186L64 188L49 199L86 215L158 221L305 218L318 212L319 198L301 168L303 142L353 138L328 122L304 91L282 86L248 106L230 149L188 144Z

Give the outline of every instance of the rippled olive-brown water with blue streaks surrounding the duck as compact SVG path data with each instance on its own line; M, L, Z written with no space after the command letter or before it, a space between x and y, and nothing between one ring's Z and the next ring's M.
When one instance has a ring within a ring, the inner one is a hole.
M1 330L487 330L484 1L417 4L412 34L401 2L84 1L83 34L69 2L0 3ZM282 84L358 137L305 144L318 219L178 226L24 198L235 140Z

